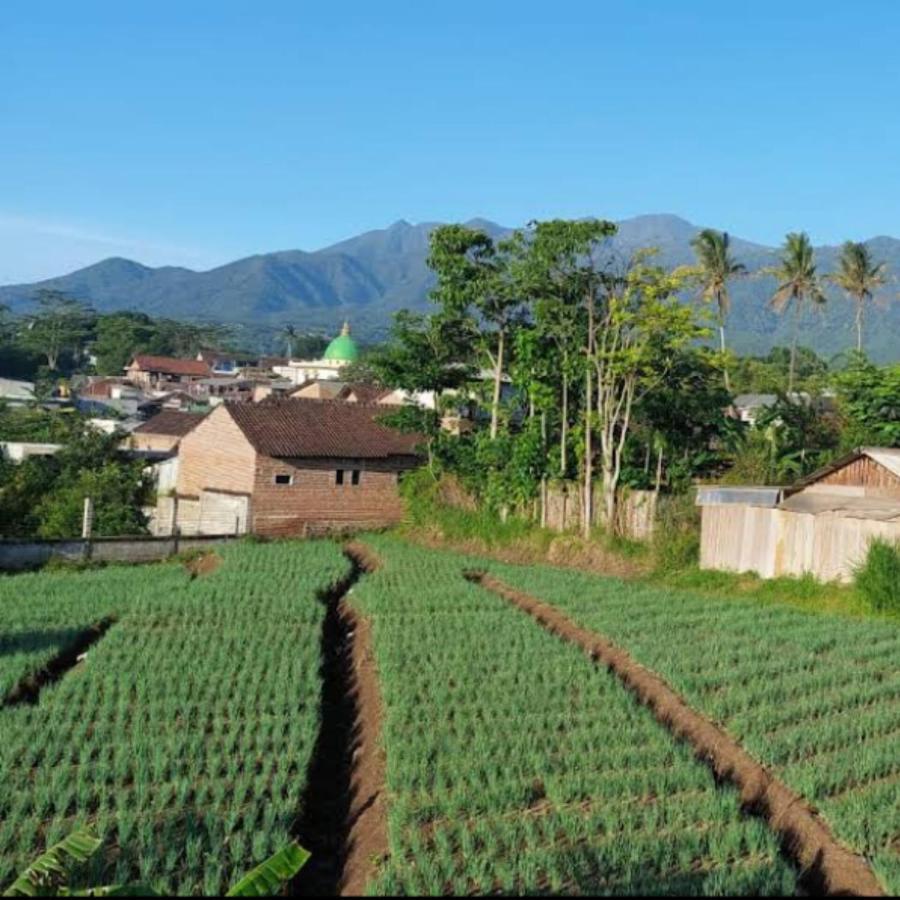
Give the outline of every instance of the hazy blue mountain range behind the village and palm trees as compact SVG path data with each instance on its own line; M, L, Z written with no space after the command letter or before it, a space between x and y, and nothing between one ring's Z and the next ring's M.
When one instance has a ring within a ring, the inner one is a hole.
M41 288L52 288L90 303L99 312L141 310L154 316L215 321L247 328L333 332L343 318L364 340L383 337L392 313L427 310L433 284L426 264L428 236L438 223L395 222L314 252L285 250L240 259L205 272L163 266L150 268L128 259L107 259L67 275L35 284L0 287L0 303L26 311ZM511 229L484 219L466 223L494 237ZM610 251L625 257L639 247L658 248L658 261L676 266L693 261L691 239L699 226L673 215L626 219L610 241ZM866 344L881 360L900 359L900 302L894 280L900 275L900 240L877 237L867 242L893 276L884 296L868 314ZM777 248L732 236L735 256L758 273L777 259ZM816 251L821 272L836 267L839 247ZM731 345L744 353L764 353L790 341L787 317L768 305L774 282L767 276L736 280L729 320ZM802 342L833 355L853 345L852 304L829 290L823 310L807 310Z

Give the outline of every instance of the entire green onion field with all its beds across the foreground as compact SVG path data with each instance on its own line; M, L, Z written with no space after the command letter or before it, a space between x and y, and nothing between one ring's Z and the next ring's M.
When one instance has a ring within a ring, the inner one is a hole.
M79 884L216 895L374 766L379 849L354 872L375 895L815 889L616 675L478 569L658 673L900 889L896 624L364 543L381 565L340 606L358 570L325 541L0 577L0 888L86 827L104 849ZM322 775L332 758L351 771ZM335 885L346 818L314 854Z

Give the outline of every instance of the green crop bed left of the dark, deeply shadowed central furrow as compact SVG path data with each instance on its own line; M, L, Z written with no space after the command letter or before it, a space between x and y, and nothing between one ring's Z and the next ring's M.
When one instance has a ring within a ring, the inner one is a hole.
M177 565L0 580L9 687L80 629L116 624L37 705L0 709L0 885L89 826L90 883L217 894L291 839L319 731L317 593L333 544L239 544Z

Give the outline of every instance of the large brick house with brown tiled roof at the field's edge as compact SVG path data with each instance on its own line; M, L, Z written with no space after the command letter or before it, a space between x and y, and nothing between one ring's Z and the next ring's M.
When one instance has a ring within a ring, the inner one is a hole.
M268 536L393 524L421 439L382 425L384 413L326 400L219 406L182 439L177 509L160 518L184 533Z

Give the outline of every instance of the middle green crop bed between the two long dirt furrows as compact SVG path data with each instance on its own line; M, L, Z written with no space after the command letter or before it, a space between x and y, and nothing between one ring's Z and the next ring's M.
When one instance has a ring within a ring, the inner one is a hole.
M782 894L760 821L611 675L461 577L373 538L354 589L384 700L379 894Z

